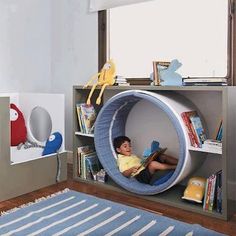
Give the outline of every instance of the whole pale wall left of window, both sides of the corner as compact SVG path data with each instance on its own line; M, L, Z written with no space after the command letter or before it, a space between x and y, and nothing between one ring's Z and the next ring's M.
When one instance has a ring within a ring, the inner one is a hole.
M0 92L65 94L69 150L72 85L97 72L97 41L88 1L0 0Z

